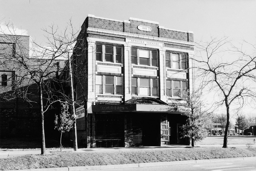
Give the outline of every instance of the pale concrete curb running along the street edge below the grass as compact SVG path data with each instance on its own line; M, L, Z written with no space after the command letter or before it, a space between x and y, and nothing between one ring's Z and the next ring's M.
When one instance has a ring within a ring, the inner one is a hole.
M241 161L241 160L256 160L256 157L164 161L164 162L153 162L153 163L134 163L134 164L100 165L100 166L55 167L55 168L41 168L41 169L23 169L19 171L84 171L84 170L103 170L103 169L136 168L136 167L159 167L159 166L168 166L168 165L215 163L215 162ZM17 170L8 170L8 171L17 171Z

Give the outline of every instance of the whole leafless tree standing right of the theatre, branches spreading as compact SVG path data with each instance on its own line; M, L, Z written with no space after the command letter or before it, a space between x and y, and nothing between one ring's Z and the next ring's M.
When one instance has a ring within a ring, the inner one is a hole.
M231 107L241 108L248 101L253 102L256 95L256 45L243 41L237 48L227 37L223 37L212 38L210 42L201 41L196 48L195 66L202 87L214 92L217 107L224 106L226 109L223 148L227 148Z

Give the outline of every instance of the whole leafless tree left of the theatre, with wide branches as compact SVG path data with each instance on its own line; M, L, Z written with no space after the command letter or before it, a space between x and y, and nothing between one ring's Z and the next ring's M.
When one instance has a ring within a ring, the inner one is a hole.
M43 29L46 33L47 46L31 42L29 48L22 47L21 36L15 34L12 25L7 24L7 28L12 34L2 33L2 41L9 45L15 45L14 53L1 54L1 65L10 71L16 71L15 81L12 91L5 91L5 99L20 97L31 104L40 106L41 116L41 154L45 154L44 138L44 113L53 108L56 102L72 103L70 98L64 93L62 81L58 78L63 70L69 52L72 52L76 42L77 31L73 29L71 21L62 31L58 26L49 26ZM4 48L4 47L3 47ZM28 52L32 52L30 55ZM62 60L63 59L63 60ZM69 72L69 71L68 71ZM68 80L68 78L67 78ZM66 81L66 80L64 80ZM39 100L33 98L33 94L38 95Z

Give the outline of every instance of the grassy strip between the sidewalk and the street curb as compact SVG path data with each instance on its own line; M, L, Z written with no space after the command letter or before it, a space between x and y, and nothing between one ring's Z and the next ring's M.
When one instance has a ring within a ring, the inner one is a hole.
M256 148L179 148L116 152L52 152L0 159L0 170L74 167L256 156Z

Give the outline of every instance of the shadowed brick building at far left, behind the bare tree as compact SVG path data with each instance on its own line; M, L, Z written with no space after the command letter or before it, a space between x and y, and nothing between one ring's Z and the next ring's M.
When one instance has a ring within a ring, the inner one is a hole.
M22 98L7 96L15 89L15 82L21 81L25 70L22 70L15 60L8 56L23 56L29 65L37 66L38 60L28 58L29 36L0 34L0 138L40 138L40 98L37 85L28 83L29 79L23 79L20 85L28 88L28 99L34 102L27 102ZM64 65L65 61L56 61ZM20 64L20 63L19 63ZM29 85L29 87L28 87ZM52 112L52 111L51 111ZM46 136L53 135L54 114L45 114ZM50 134L51 132L51 134Z

